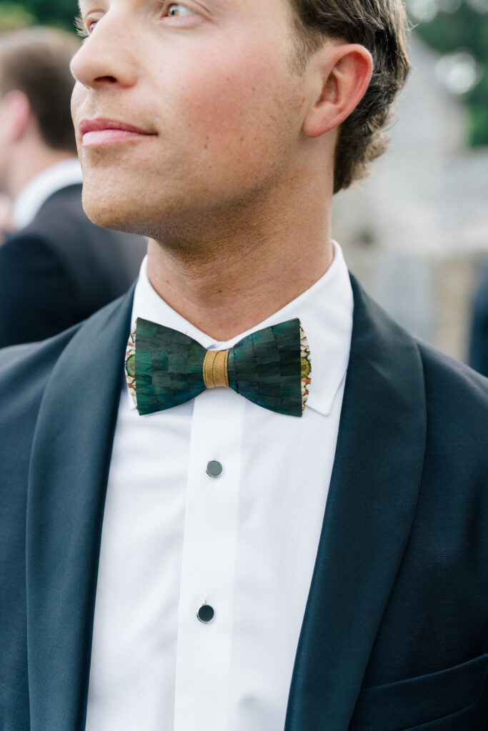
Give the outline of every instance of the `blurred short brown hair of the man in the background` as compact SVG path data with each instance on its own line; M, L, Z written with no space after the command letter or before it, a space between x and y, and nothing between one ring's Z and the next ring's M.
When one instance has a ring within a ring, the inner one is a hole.
M70 61L79 45L74 34L39 26L0 35L0 94L26 94L42 139L55 150L76 152Z

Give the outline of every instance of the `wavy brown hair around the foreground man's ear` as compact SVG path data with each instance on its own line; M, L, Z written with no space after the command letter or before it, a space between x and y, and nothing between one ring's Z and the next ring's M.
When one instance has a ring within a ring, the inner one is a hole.
M366 94L342 123L334 165L334 193L369 173L388 146L384 127L392 103L410 72L408 20L401 0L290 0L304 61L326 38L359 43L371 53L372 80Z

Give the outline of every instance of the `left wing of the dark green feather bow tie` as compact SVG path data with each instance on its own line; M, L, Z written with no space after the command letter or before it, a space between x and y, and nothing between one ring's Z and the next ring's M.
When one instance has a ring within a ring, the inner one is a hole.
M153 414L184 404L205 390L206 350L193 338L138 317L135 342L139 414Z

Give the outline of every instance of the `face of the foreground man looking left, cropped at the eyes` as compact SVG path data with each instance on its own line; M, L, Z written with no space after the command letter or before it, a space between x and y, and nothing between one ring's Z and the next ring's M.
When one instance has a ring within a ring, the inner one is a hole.
M279 184L304 102L288 0L80 5L90 36L72 61L72 114L96 223L157 236L162 221ZM113 123L146 134L94 129Z

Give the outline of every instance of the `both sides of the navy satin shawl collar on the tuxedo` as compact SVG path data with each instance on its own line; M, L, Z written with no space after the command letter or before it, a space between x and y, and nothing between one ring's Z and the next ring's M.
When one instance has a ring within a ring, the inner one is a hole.
M285 731L345 731L408 540L426 409L413 338L352 279L339 438ZM31 731L83 731L105 489L133 290L91 317L53 369L27 507ZM86 398L86 390L90 398Z

